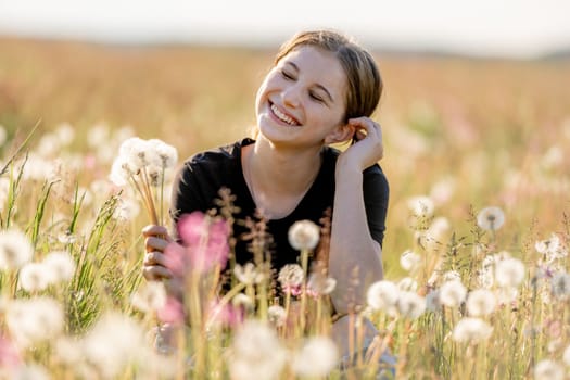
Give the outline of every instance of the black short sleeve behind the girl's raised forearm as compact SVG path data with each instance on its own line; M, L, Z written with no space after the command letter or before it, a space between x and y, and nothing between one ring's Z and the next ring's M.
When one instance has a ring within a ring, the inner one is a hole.
M370 235L382 246L390 188L380 165L376 164L364 172L363 191Z

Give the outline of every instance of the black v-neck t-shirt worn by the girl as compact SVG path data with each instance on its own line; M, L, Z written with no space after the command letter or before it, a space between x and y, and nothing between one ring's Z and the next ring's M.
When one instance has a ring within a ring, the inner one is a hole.
M237 238L236 262L244 264L253 261L249 242L243 239L251 229L243 221L250 217L255 220L255 203L252 199L241 166L241 148L254 143L244 138L236 143L198 153L187 160L176 175L173 185L170 216L174 226L178 218L193 211L207 212L219 208L216 199L219 190L227 188L236 197L233 204L239 213L233 215L233 237ZM318 225L329 208L333 212L334 168L340 151L325 147L320 170L291 214L280 219L267 220L267 232L273 237L268 248L271 268L278 271L283 265L297 263L300 252L288 240L291 225L297 220L309 219ZM385 229L389 187L388 180L378 164L364 170L364 199L368 227L372 238L382 244Z

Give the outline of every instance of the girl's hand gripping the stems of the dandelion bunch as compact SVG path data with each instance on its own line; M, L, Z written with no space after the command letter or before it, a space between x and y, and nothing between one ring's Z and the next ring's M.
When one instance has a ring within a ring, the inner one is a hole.
M173 242L173 238L163 226L149 225L142 229L147 253L142 261L142 276L149 281L173 279L174 274L166 265L164 250Z

